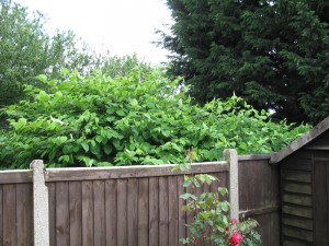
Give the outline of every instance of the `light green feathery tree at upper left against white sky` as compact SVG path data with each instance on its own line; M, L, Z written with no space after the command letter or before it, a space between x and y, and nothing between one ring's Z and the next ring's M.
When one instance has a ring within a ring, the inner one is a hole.
M63 68L89 72L99 58L72 32L54 36L44 28L45 17L11 0L0 0L0 106L22 98L23 84L35 84L37 74L58 78ZM82 48L77 48L77 43Z

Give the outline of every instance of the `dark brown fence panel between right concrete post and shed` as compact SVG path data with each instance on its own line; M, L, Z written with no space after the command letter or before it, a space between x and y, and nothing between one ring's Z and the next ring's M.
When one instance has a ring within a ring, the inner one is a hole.
M262 245L280 245L280 169L270 155L239 156L240 214L256 219Z

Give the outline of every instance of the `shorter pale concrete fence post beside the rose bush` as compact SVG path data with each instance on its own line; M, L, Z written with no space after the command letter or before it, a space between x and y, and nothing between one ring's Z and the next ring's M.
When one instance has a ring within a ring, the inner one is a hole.
M231 209L229 215L239 221L239 166L238 153L234 149L224 150L225 160L228 162L228 197Z

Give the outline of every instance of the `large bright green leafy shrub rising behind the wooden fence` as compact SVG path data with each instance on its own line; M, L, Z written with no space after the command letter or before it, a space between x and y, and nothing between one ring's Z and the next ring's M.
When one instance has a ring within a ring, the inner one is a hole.
M197 147L198 161L216 161L225 148L279 150L308 129L272 122L236 96L193 105L189 89L160 69L63 77L39 75L49 91L27 85L27 99L0 113L9 122L0 137L2 167L27 167L34 159L48 166L181 163L190 147Z

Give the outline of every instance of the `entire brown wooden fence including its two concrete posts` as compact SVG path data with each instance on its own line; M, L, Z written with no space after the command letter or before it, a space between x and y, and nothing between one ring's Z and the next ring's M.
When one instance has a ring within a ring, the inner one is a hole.
M238 161L228 151L226 161L193 164L192 173L218 177L196 192L229 187L232 216L257 219L263 245L274 246L279 172L268 160ZM189 173L172 172L172 165L43 169L38 163L31 171L0 172L0 245L178 246L188 235L184 224L191 218L180 209L179 196Z

